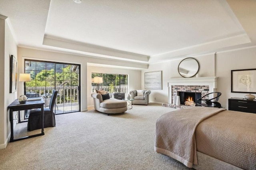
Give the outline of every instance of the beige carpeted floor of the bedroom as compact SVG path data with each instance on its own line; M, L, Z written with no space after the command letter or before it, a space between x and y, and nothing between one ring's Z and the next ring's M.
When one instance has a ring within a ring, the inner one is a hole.
M45 128L44 136L8 143L0 150L0 169L189 169L154 151L156 120L174 110L150 103L110 116L94 109L56 115L56 127ZM15 137L26 135L26 128L26 123L18 124Z

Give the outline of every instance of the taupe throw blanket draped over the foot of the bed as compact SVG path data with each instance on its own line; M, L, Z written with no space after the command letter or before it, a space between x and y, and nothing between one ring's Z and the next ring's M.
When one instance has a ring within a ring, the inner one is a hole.
M193 164L197 164L194 134L197 125L224 110L226 109L192 107L162 115L156 121L155 151L192 168Z

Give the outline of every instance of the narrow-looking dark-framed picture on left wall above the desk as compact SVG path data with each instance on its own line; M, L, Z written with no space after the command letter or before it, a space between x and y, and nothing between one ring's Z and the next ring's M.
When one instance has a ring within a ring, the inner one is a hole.
M11 55L10 57L10 93L17 91L17 79L18 79L18 60Z

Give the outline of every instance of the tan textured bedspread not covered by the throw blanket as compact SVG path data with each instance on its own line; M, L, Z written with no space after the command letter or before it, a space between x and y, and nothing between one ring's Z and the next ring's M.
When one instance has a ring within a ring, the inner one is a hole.
M198 125L196 149L245 170L256 170L256 114L222 111Z

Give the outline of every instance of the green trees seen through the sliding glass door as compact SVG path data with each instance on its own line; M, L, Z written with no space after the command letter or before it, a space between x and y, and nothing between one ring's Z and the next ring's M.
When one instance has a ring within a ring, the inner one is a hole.
M45 92L45 88L40 89L38 87L78 86L79 73L71 72L73 65L38 61L26 61L26 63L29 64L26 65L25 72L31 75L31 81L26 82L26 87L34 87L36 93L42 95ZM70 89L60 88L57 103L63 103L64 101L66 103L78 102L78 96L76 96L78 89ZM52 93L52 90L48 92ZM63 94L65 94L65 97Z

